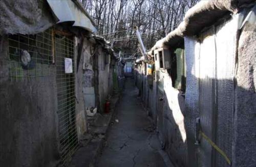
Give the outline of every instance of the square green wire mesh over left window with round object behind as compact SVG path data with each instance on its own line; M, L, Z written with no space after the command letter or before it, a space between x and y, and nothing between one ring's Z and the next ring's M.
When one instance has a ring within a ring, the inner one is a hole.
M53 74L52 29L36 35L8 35L11 80Z

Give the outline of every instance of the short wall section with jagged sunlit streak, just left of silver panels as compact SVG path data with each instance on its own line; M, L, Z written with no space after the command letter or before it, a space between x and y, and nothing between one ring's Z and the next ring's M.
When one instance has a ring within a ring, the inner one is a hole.
M165 150L174 163L179 166L186 166L187 144L184 126L184 97L179 90L173 88L172 78L167 72L163 77L163 138Z

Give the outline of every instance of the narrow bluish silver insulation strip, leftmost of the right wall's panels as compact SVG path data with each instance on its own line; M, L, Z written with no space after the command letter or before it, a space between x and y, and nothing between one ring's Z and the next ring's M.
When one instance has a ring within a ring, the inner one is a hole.
M198 166L196 159L196 118L199 117L199 59L200 43L196 38L185 37L186 92L185 128L187 134L188 164Z

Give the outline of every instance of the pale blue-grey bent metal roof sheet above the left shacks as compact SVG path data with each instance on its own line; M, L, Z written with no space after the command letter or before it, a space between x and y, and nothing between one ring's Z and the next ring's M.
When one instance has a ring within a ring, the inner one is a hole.
M73 26L79 26L92 33L96 33L97 29L95 23L90 18L86 10L84 10L79 2L76 1L61 1L61 0L47 0L48 4L55 17L60 22L73 22Z

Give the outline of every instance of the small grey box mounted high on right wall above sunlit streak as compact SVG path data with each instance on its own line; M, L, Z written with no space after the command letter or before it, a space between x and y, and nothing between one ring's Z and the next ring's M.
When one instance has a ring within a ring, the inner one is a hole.
M156 70L170 69L171 59L169 49L160 48L154 50Z

